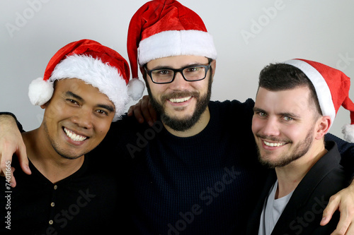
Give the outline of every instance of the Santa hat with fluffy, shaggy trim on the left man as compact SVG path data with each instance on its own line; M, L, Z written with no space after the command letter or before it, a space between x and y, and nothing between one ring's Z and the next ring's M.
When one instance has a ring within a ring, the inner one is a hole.
M127 61L118 52L93 40L71 42L59 49L45 68L43 78L30 83L30 102L34 105L48 102L55 80L64 78L84 80L107 95L115 105L113 121L124 114L125 104L134 92Z

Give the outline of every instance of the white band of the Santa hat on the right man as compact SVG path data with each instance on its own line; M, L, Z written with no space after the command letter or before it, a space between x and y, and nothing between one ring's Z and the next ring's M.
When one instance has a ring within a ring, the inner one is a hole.
M314 88L316 90L316 95L319 99L319 106L321 107L322 114L324 116L331 117L331 125L336 117L336 109L334 108L331 90L326 83L324 77L316 70L316 68L307 64L305 61L298 59L292 59L290 61L285 61L284 64L290 64L299 68L304 74L311 80Z

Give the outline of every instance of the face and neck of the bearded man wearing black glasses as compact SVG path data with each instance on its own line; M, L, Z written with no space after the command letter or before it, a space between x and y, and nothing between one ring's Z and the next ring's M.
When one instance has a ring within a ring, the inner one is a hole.
M171 56L149 61L144 68L152 107L171 133L195 135L205 128L210 119L207 105L215 60L203 56Z

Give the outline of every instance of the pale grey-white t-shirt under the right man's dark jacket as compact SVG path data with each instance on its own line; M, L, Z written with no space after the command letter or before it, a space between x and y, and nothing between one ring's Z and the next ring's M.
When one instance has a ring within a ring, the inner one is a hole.
M261 222L259 224L258 235L270 235L278 222L280 215L285 209L285 206L289 202L291 195L294 191L288 195L275 199L275 192L278 188L278 180L270 188L268 198L265 200L263 210L261 214Z

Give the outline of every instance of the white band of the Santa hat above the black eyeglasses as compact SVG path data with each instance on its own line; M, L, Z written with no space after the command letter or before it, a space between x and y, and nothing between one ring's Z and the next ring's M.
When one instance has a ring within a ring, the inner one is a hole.
M205 56L217 59L212 35L200 30L170 30L156 33L139 43L139 65L168 56Z

